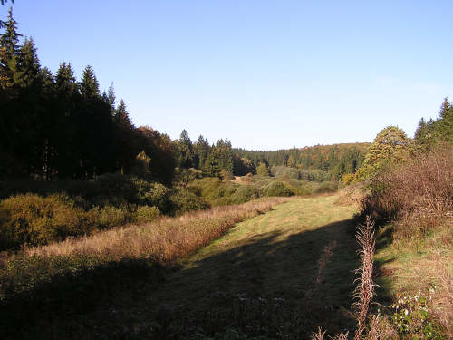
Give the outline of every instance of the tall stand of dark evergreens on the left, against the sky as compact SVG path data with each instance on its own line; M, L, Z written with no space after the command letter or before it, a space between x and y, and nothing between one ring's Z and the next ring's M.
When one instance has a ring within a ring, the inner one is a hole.
M176 150L168 136L137 129L111 84L101 96L91 66L77 82L71 63L42 68L34 40L17 32L9 11L0 34L0 178L94 179L131 173L143 151L152 179L171 181Z

